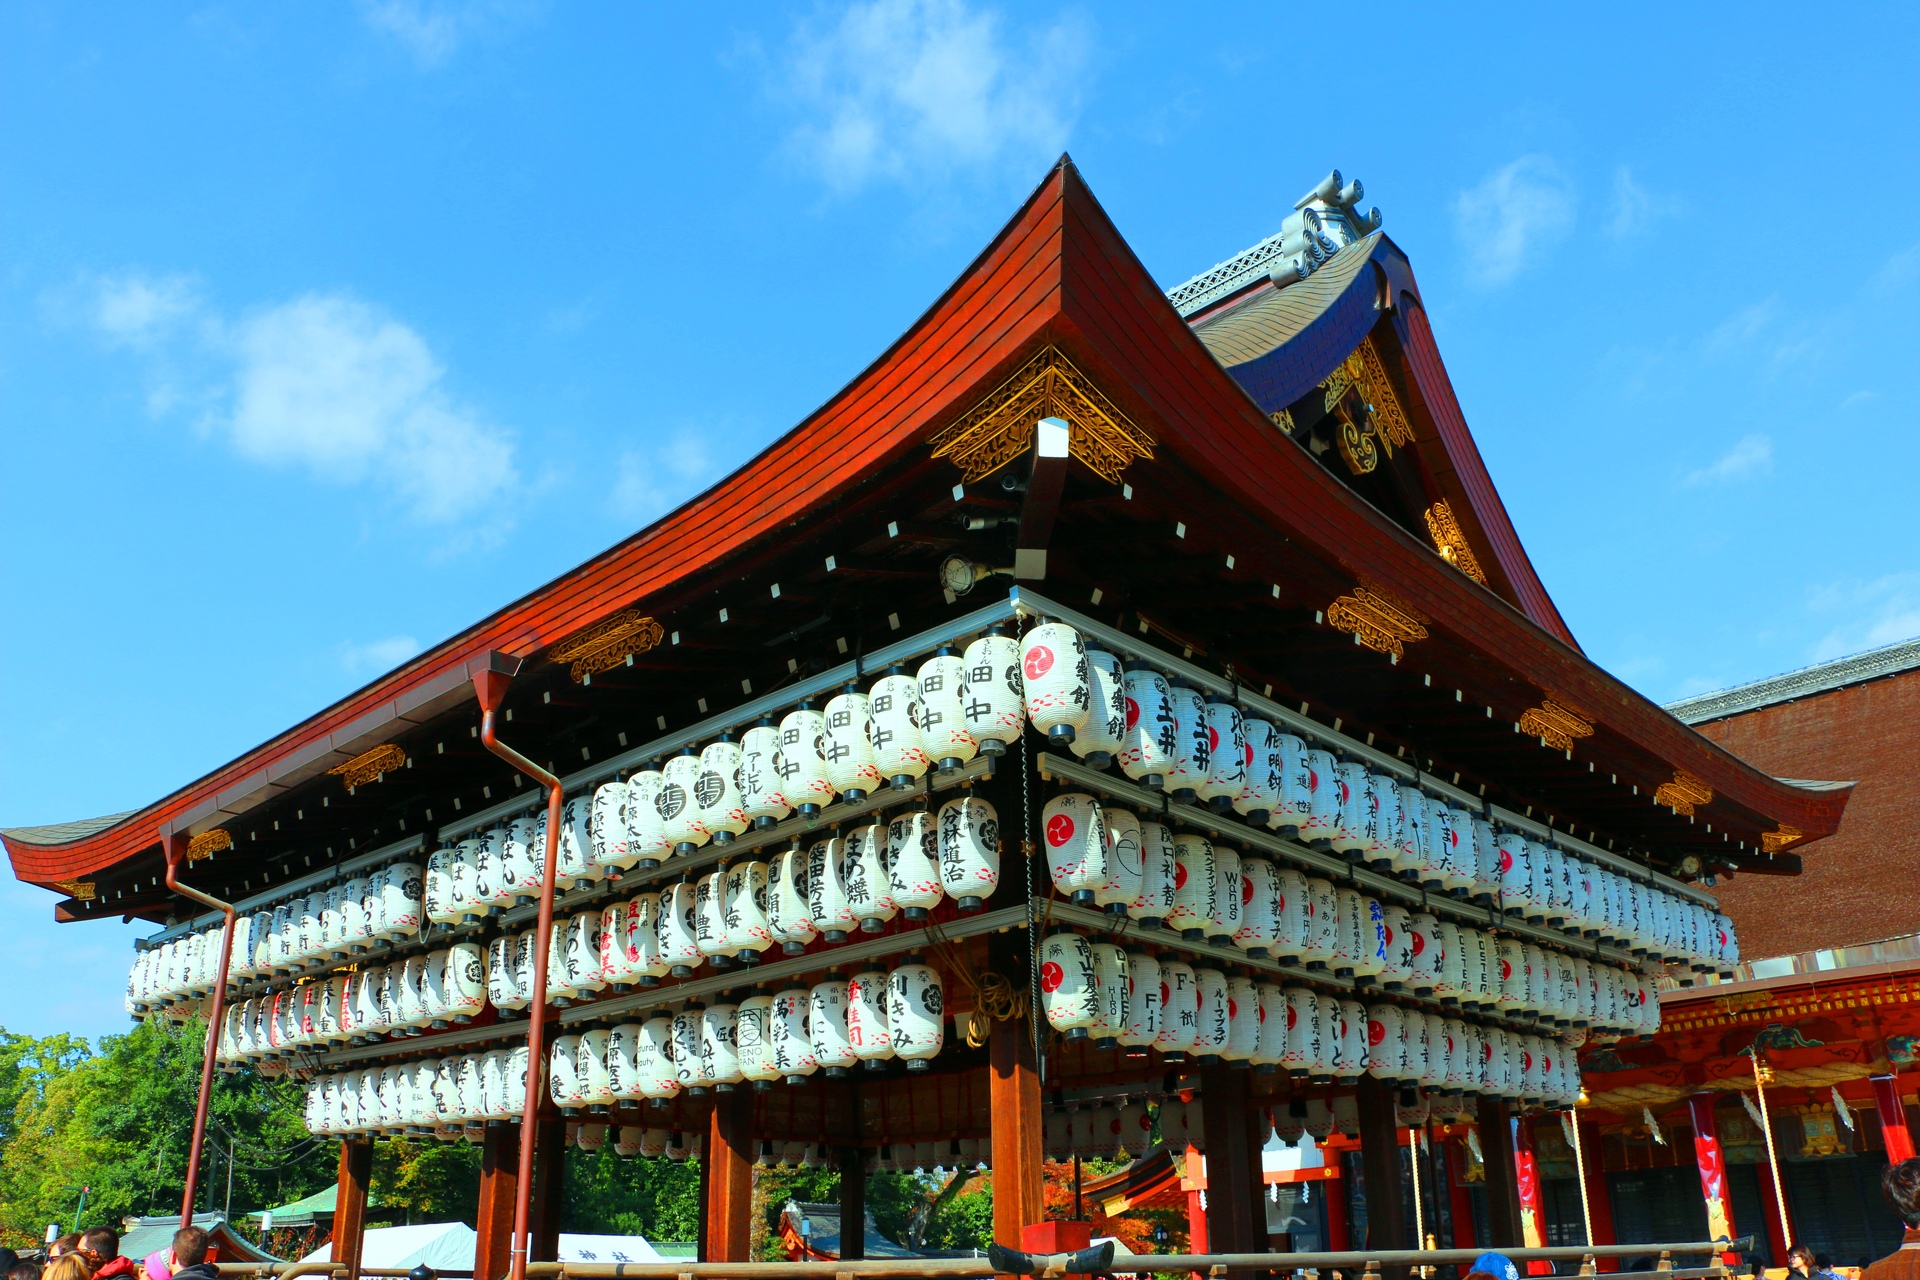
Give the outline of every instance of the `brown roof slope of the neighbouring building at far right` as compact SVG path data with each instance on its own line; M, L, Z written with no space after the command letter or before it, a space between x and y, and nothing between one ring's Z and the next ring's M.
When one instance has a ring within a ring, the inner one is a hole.
M1747 960L1920 933L1920 672L1699 725L1776 777L1853 779L1836 835L1797 879L1715 890Z

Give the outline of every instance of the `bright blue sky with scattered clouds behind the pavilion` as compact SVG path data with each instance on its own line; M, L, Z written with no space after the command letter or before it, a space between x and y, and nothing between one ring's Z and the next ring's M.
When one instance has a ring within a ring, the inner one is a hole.
M856 374L1062 150L1164 284L1340 167L1586 651L1920 633L1905 6L0 8L0 825L136 808ZM131 927L6 881L0 1025Z

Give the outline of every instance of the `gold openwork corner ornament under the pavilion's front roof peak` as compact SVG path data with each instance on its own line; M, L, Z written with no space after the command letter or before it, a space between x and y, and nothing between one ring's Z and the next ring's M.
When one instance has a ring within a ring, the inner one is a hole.
M966 484L1000 470L1033 447L1033 424L1064 418L1068 453L1119 484L1135 459L1154 457L1154 438L1119 411L1058 347L1043 347L977 405L933 432L933 457L952 459Z

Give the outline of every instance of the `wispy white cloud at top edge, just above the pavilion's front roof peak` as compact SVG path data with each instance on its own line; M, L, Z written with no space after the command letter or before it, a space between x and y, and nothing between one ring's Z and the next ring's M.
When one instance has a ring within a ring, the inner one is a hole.
M801 29L789 88L808 119L795 152L837 190L1056 155L1079 109L1081 27L1010 42L964 0L870 0Z

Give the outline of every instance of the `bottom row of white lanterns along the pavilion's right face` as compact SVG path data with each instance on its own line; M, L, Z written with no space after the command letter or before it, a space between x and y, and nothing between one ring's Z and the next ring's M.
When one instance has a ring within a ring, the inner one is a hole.
M1192 967L1169 956L1125 952L1056 933L1041 948L1046 1021L1069 1038L1154 1048L1167 1057L1286 1069L1306 1077L1359 1077L1465 1088L1496 1096L1559 1096L1544 1036L1482 1027L1375 1000L1361 1004L1309 986L1258 983ZM1584 1040L1584 1034L1571 1032ZM1553 1036L1551 1044L1559 1046ZM1565 1061L1563 1067L1571 1067ZM1572 1092L1578 1094L1578 1075Z

